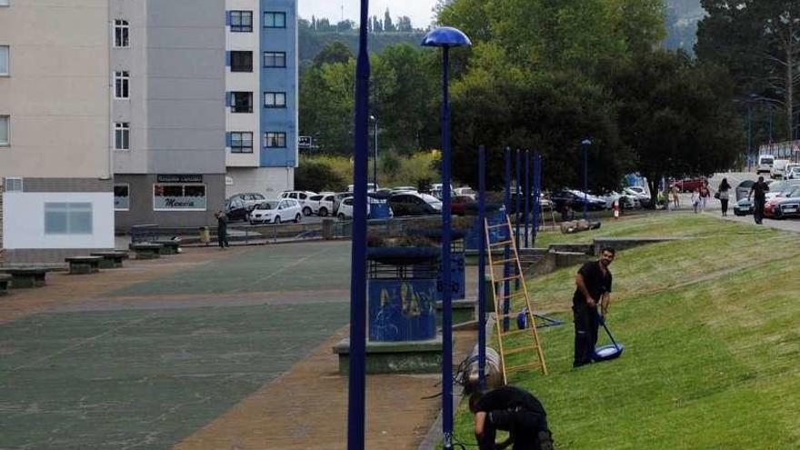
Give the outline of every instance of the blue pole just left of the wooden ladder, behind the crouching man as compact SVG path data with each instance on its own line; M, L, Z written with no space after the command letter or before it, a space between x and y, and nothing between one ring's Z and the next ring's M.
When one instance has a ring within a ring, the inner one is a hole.
M478 147L478 380L486 387L486 149Z

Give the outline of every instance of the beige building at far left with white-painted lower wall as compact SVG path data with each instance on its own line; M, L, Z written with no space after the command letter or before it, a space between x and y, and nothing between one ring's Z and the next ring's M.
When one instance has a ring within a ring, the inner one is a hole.
M108 0L0 0L0 264L114 247Z

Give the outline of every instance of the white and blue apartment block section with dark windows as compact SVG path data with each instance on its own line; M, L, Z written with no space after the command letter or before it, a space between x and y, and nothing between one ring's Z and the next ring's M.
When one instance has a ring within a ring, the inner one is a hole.
M295 184L296 0L225 3L225 195Z

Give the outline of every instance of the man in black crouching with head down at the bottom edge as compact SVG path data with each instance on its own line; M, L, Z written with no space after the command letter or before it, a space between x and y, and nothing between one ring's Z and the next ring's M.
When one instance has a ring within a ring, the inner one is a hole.
M469 410L475 415L475 439L480 450L552 450L553 438L547 428L545 408L524 390L506 385L494 391L473 393ZM497 430L509 433L503 443L495 443Z

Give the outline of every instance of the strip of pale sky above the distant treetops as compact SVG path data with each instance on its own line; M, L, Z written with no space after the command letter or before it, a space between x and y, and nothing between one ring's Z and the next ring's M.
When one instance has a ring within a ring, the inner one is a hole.
M392 20L407 15L411 17L411 23L415 28L425 28L433 20L434 5L436 0L370 0L369 15L383 18L388 7ZM361 2L358 0L297 0L300 16L304 19L310 19L315 15L327 17L334 23L338 22L342 19L342 6L345 19L351 19L357 25L361 9Z

